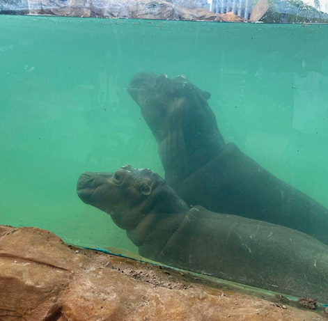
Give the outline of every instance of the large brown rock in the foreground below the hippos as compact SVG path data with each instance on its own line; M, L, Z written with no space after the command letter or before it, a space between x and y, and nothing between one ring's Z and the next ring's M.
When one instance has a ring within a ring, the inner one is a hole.
M188 275L0 226L0 320L319 320Z

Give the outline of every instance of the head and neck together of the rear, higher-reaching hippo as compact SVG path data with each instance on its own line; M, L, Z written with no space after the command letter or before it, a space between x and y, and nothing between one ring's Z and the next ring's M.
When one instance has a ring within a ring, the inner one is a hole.
M131 79L127 91L159 144L165 180L173 188L224 148L208 105L210 93L186 77L141 72Z

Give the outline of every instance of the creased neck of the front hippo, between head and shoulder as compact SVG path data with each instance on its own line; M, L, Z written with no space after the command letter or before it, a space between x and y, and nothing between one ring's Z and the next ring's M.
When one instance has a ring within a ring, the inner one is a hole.
M134 228L127 230L127 236L139 246L141 255L147 244L153 244L152 251L157 247L160 251L167 242L166 238L179 228L189 210L189 206L169 185L156 187L143 203L140 207L142 219ZM163 233L159 232L161 230ZM146 254L149 257L149 253Z

